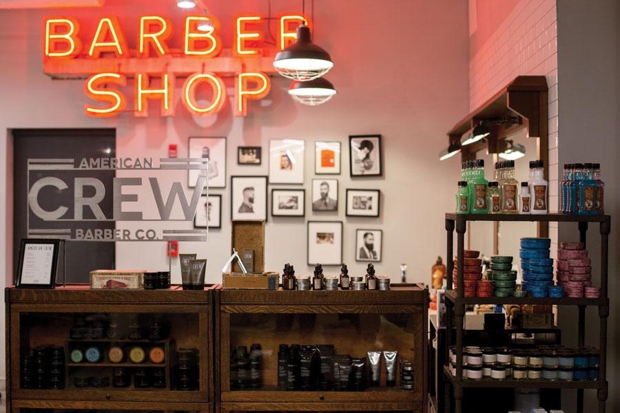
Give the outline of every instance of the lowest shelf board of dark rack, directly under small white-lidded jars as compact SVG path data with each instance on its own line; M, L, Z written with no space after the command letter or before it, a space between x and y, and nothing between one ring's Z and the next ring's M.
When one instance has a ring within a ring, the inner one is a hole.
M563 380L518 380L518 379L504 379L496 380L485 377L482 380L462 379L457 380L454 377L450 369L444 366L444 374L451 381L455 387L462 388L538 388L538 389L597 389L599 388L599 382L594 380L586 381L563 381Z

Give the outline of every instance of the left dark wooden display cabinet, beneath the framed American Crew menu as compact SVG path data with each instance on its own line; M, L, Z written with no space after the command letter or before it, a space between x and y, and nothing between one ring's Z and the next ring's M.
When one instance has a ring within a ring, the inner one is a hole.
M177 286L169 290L90 290L88 286L52 290L7 288L8 409L143 410L150 403L149 410L210 410L214 402L213 289L184 291ZM96 337L90 324L83 330L84 337L75 337L76 317L81 319L82 315L91 317L90 320L103 320L98 321L98 325L103 324L103 337L101 332ZM109 337L112 317L118 319L121 332ZM154 319L163 326L163 336L149 340ZM131 335L132 321L137 321L135 325L141 328L143 337ZM50 345L63 346L65 352L64 383L59 390L46 388L49 386L41 389L22 381L23 357L37 346ZM121 363L112 363L108 358L107 352L112 346L123 348L125 359ZM128 353L134 346L145 350L145 362L132 363ZM164 350L162 363L149 361L148 351L154 346ZM72 350L89 347L100 350L101 361L72 362ZM197 349L196 369L192 370L198 380L195 390L180 390L178 385L177 351L181 348ZM128 372L130 384L127 388L112 386L114 368L124 368ZM144 369L151 376L154 369L161 369L159 374L165 372L165 388L134 387L137 369ZM108 377L110 385L77 388L76 378L81 377Z

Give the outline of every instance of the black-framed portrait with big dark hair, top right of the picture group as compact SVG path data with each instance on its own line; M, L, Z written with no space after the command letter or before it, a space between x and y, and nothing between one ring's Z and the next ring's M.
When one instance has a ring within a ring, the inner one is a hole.
M381 135L349 136L351 176L381 175Z

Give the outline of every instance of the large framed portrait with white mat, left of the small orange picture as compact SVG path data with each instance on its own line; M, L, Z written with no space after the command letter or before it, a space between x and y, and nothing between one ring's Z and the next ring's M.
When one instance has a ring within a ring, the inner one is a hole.
M269 141L269 182L271 184L304 183L305 142L298 139Z

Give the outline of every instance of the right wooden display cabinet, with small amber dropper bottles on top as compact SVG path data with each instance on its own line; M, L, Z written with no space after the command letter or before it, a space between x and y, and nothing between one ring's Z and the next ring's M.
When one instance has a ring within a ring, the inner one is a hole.
M391 290L219 290L216 294L216 410L426 412L428 293L417 285ZM262 386L231 388L231 349L262 346ZM280 344L333 344L335 354L366 357L397 350L397 383L363 391L278 390ZM413 391L400 387L400 360L414 364Z

